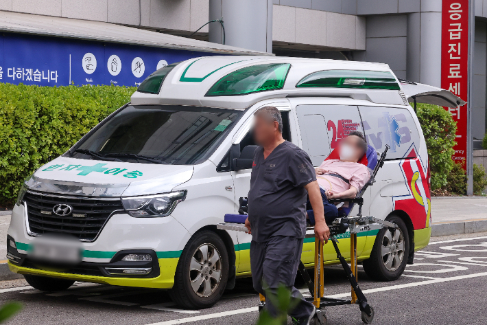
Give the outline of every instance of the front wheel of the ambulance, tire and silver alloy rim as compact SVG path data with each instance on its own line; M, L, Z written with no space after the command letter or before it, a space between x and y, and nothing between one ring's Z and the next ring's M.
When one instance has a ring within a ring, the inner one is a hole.
M225 291L228 269L222 238L209 230L198 232L182 251L169 295L186 309L209 308Z

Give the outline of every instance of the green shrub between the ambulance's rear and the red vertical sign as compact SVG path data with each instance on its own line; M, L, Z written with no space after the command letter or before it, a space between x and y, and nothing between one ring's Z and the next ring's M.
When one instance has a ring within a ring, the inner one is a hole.
M447 186L449 174L455 166L451 156L455 153L457 124L448 111L436 105L418 104L417 116L428 148L431 190L437 190Z

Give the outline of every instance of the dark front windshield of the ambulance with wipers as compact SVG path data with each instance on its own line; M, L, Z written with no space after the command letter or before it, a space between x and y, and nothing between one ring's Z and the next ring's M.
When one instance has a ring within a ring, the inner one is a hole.
M182 106L129 105L71 150L75 158L198 164L243 112Z

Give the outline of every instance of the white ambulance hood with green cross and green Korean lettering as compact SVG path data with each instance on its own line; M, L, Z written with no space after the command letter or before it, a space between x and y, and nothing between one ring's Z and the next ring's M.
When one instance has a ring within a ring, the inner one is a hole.
M193 166L134 164L58 157L25 181L30 190L91 197L170 192L193 175Z

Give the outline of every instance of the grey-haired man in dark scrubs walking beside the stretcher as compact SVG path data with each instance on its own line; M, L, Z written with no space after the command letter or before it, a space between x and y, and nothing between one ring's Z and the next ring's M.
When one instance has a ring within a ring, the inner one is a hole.
M306 234L307 195L316 219L316 239L326 242L330 236L320 187L307 153L283 139L278 109L263 107L254 115L254 139L260 146L254 153L246 221L252 234L250 266L254 289L265 295L265 291L275 293L279 284L284 284L292 297L300 300L289 315L295 324L307 325L315 308L294 288L294 280ZM270 300L266 307L271 315L277 314Z

